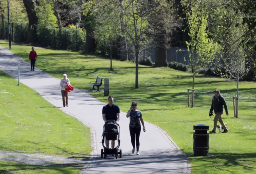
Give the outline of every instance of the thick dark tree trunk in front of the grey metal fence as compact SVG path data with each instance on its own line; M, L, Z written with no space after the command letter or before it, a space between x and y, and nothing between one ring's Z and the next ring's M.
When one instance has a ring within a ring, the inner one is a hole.
M156 38L156 62L155 67L168 66L167 56L166 56L166 35L162 35Z

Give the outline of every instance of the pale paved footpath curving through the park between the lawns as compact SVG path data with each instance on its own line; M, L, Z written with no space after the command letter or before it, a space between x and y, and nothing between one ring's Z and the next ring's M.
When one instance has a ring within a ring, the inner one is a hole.
M28 50L29 52L30 50ZM40 58L40 56L39 56ZM92 160L86 168L88 174L189 174L190 165L186 156L180 152L172 139L160 128L146 122L146 132L140 134L140 156L132 154L129 119L124 112L120 116L120 148L122 158L100 158L102 148L102 106L105 103L93 98L88 93L74 89L69 94L68 107L63 108L60 93L60 80L35 68L30 71L30 64L9 50L0 46L0 69L17 79L17 67L20 62L20 82L36 90L41 96L71 116L76 117L91 128ZM60 74L62 78L62 74ZM45 85L42 85L45 84ZM72 81L71 81L72 84ZM20 86L22 88L22 86ZM107 102L107 101L106 101ZM128 108L129 109L129 108Z

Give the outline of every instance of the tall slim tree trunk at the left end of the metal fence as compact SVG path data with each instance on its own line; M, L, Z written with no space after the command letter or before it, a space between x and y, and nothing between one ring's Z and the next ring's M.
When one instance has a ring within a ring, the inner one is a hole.
M128 60L128 49L127 49L127 42L125 37L125 24L124 24L124 10L123 10L123 0L119 0L119 6L121 9L120 14L120 25L121 25L121 39L120 39L120 51L122 52L121 60Z

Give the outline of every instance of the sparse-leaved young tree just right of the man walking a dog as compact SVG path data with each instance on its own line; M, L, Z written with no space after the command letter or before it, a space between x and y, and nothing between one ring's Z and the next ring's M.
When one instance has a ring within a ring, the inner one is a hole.
M246 42L240 42L240 38L243 37L244 40L250 39L243 36L247 30L244 25L238 25L242 22L242 15L240 12L236 12L233 18L232 24L228 28L223 27L225 38L222 41L222 51L218 56L216 56L215 65L218 67L220 75L228 78L234 78L237 81L236 86L236 97L238 99L239 92L239 79L242 78L251 68L249 62L246 61L247 53L252 52L252 49L246 47ZM247 51L246 51L247 49ZM224 74L222 71L224 70ZM216 72L218 74L218 72ZM237 100L237 116L238 116L238 100Z

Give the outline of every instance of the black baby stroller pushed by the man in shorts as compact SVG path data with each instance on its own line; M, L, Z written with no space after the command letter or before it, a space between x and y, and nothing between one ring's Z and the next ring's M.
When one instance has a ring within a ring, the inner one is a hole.
M116 159L118 154L120 155L120 158L122 158L122 149L119 150L119 146L120 146L120 126L119 124L117 124L117 122L115 120L108 120L106 121L106 123L103 126L104 128L104 132L102 134L103 138L102 138L102 146L104 148L101 149L101 158L106 159L107 155L116 155ZM106 136L106 140L116 140L118 141L118 146L116 146L114 149L110 149L110 148L106 148L104 146L104 141L105 141L105 136Z

